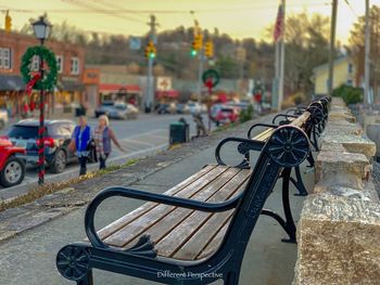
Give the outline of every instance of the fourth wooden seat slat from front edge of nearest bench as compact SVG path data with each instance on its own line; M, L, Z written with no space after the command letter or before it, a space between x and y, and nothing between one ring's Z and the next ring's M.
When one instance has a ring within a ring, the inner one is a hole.
M241 170L233 179L221 187L207 202L216 203L228 199L236 193L241 185L249 179L250 170ZM160 241L155 248L159 255L172 257L176 251L212 217L210 212L194 211L188 219L183 220L178 226L173 229L162 241ZM215 224L211 228L215 231ZM200 246L200 245L199 245Z

